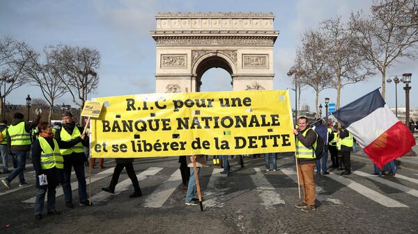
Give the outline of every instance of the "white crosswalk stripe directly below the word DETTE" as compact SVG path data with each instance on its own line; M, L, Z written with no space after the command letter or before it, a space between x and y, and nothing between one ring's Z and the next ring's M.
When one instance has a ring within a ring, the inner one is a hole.
M258 196L261 198L261 205L265 209L273 209L273 205L284 204L284 200L281 199L279 192L276 191L274 186L265 178L263 172L258 167L254 167L256 171L255 175L250 175L249 177L256 185L256 191Z

